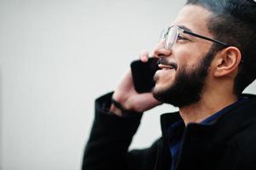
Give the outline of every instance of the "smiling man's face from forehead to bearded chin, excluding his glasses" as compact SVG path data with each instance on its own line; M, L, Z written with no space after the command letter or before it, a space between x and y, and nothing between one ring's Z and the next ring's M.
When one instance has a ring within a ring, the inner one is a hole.
M205 8L187 5L172 25L213 37L207 27L209 15ZM191 105L200 99L207 82L208 66L214 55L210 50L213 42L188 34L180 36L182 38L178 38L171 49L164 48L164 42L157 44L154 55L163 62L159 65L162 70L156 71L156 86L153 88L156 99L179 107Z

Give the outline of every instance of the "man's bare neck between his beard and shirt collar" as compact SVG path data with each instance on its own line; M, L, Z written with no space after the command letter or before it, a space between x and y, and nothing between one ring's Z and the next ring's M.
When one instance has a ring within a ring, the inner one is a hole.
M185 125L191 122L202 122L208 116L212 116L217 111L237 101L234 94L208 94L202 95L202 99L192 105L179 108L179 114Z

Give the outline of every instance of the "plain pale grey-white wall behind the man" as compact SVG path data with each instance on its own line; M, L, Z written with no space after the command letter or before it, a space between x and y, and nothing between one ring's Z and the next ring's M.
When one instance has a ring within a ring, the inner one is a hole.
M80 169L94 99L154 47L184 3L0 0L0 169ZM175 110L148 111L131 148L149 146L160 113Z

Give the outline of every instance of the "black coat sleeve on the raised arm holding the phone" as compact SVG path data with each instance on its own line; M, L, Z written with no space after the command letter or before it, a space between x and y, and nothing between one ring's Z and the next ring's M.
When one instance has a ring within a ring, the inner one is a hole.
M94 123L85 148L82 170L145 169L144 162L155 158L156 144L149 149L128 151L142 113L134 112L127 117L111 114L108 111L111 95L96 99Z

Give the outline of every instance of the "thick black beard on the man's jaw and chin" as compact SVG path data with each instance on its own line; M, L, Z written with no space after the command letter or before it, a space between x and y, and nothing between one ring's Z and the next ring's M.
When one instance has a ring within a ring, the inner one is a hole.
M156 90L153 88L154 97L167 104L176 107L191 105L201 99L202 89L208 76L208 68L216 53L210 49L198 66L186 71L185 68L177 73L174 84L169 88Z

